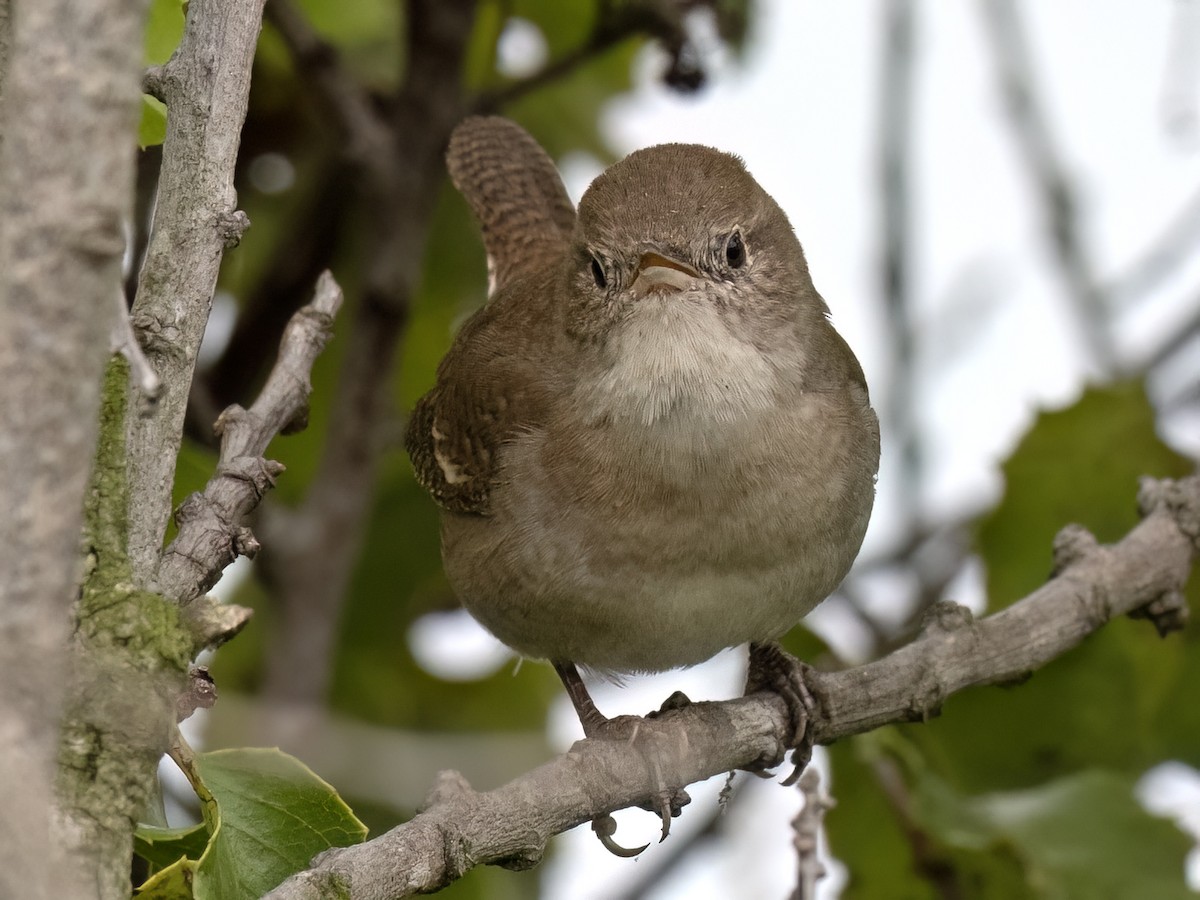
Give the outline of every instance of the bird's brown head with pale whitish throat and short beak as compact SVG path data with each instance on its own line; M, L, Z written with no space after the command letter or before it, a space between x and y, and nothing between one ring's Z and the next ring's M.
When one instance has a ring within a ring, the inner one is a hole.
M827 313L779 204L696 144L638 150L592 184L565 278L588 383L643 421L769 404Z

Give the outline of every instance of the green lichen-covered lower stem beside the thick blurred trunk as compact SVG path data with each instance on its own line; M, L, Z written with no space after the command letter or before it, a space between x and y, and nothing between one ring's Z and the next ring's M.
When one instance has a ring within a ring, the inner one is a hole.
M155 768L175 724L174 698L193 650L179 607L133 582L125 468L128 391L128 366L114 356L104 373L84 503L84 571L59 744L59 792L83 814L73 816L85 823L73 838L104 860L100 893L106 896L128 890L133 826L152 796Z

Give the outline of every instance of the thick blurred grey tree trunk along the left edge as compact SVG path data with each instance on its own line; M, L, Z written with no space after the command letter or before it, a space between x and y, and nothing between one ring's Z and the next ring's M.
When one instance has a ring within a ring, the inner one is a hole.
M0 895L83 896L50 838L79 529L133 185L144 0L0 0Z

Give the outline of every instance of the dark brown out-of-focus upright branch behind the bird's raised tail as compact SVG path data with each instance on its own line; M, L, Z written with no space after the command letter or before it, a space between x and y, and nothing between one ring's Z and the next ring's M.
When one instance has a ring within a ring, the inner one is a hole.
M280 610L264 680L264 694L274 700L316 701L325 694L338 611L373 502L376 463L398 432L388 373L408 324L445 178L442 154L466 109L460 76L474 7L474 0L408 4L406 82L383 103L390 112L388 143L355 161L367 244L334 420L304 503L294 510L270 505L259 523L269 546L260 571L276 588ZM330 65L336 62L332 58Z

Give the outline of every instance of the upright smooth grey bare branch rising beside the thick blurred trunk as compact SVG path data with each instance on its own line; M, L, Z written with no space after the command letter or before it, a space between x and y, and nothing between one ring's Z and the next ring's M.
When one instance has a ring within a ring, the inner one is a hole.
M250 95L263 0L192 0L170 61L146 74L167 103L158 199L133 304L133 329L162 379L158 414L130 416L130 558L150 586L170 514L175 458L196 354L224 250L248 224L234 163Z

